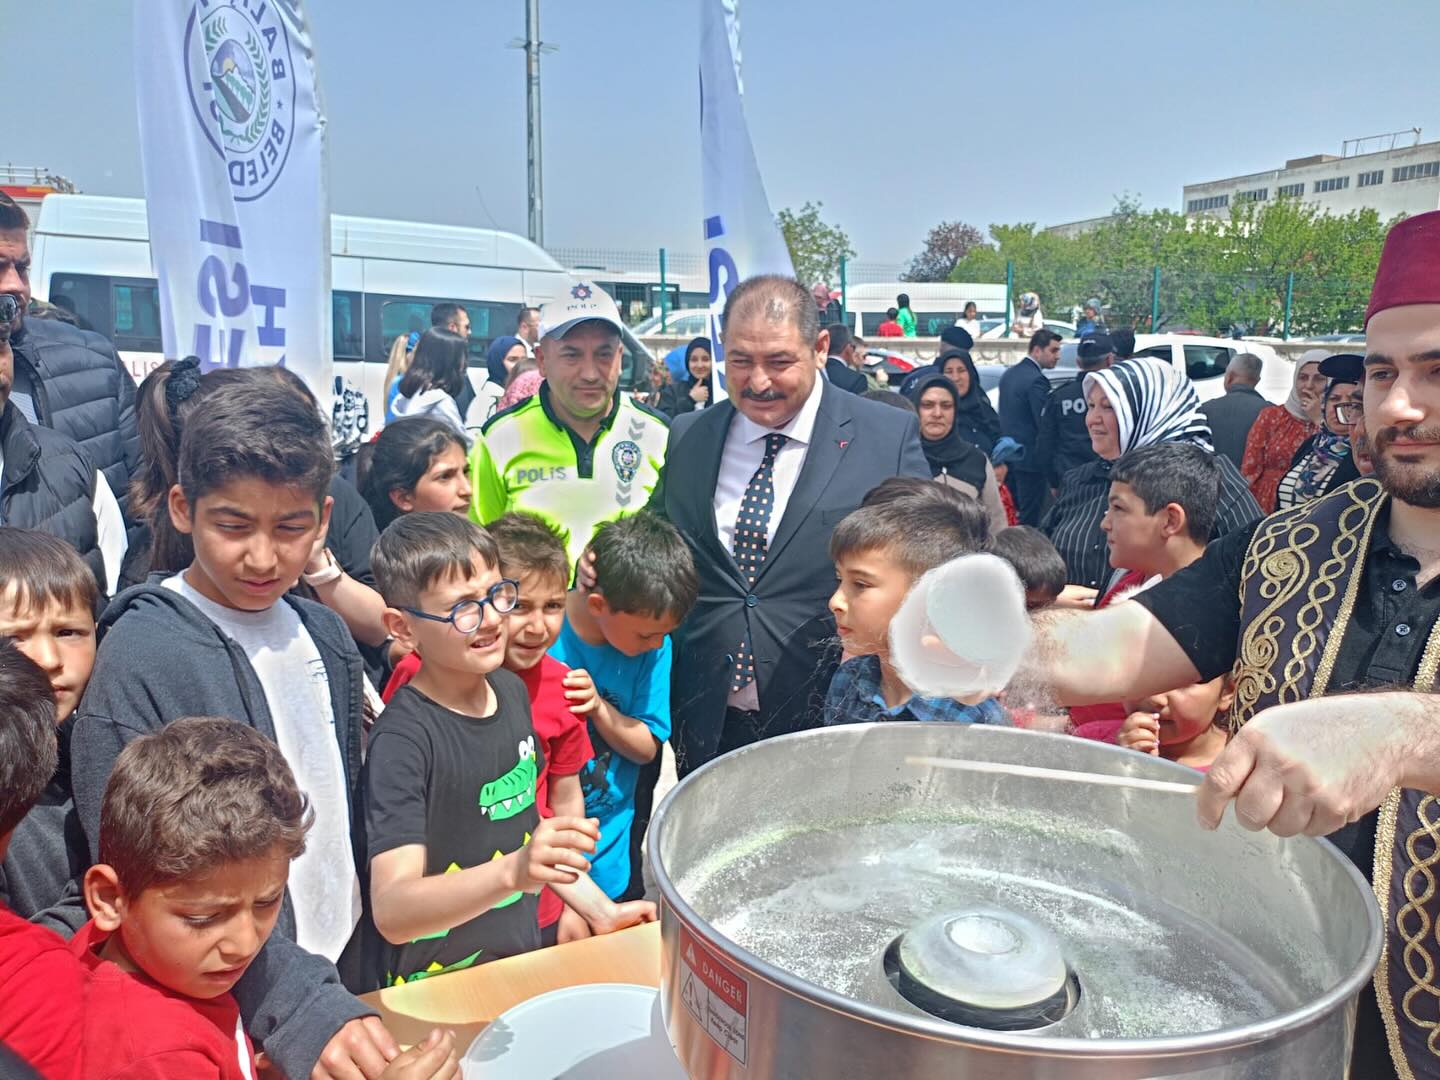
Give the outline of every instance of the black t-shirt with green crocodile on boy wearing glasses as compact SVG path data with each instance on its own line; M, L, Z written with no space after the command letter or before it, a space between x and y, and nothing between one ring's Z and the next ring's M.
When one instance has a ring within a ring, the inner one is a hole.
M540 814L540 744L524 683L488 675L492 716L452 713L402 687L376 721L364 778L367 860L425 845L425 874L490 863L520 850ZM536 896L514 893L446 933L382 943L386 985L459 971L540 948Z

